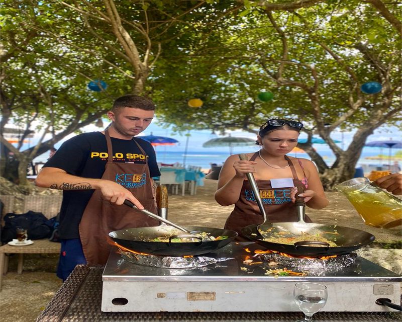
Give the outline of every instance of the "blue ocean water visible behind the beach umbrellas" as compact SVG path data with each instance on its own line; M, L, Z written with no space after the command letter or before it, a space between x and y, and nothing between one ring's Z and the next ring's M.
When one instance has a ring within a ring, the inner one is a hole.
M158 147L159 148L159 147ZM221 152L212 152L212 151L189 151L186 154L184 151L169 151L168 149L156 149L156 159L160 163L164 164L185 164L185 166L195 166L201 167L203 169L210 169L212 163L216 163L217 165L222 165L225 160L230 156L229 151L221 151ZM241 150L235 151L234 153L240 153ZM251 151L244 151L251 152ZM328 166L331 166L335 162L335 155L331 151L319 151L320 155L323 157L324 161ZM388 158L383 158L382 160L378 159L366 159L367 156L376 156L379 154L379 151L363 151L362 155L356 165L356 167L362 165L373 165L373 166L381 166L388 164ZM307 153L288 153L288 155L293 157L303 157L307 159L311 159ZM391 165L393 161L391 160ZM399 162L399 166L401 162Z

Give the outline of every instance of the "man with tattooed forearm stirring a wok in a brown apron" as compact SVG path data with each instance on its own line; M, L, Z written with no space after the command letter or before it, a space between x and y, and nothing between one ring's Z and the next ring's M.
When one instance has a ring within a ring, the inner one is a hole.
M108 233L158 221L122 205L156 212L152 177L160 176L152 145L134 136L151 123L155 105L125 95L113 103L111 125L102 132L79 134L64 142L36 179L39 187L63 190L60 210L60 260L65 280L78 264L106 264Z

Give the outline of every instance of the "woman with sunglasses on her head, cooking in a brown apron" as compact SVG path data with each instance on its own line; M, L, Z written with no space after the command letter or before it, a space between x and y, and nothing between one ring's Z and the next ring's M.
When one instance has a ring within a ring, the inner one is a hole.
M308 159L287 156L297 144L303 124L297 121L271 119L257 135L261 149L248 153L248 160L231 155L222 167L215 200L222 206L235 204L225 228L239 233L238 241L248 240L241 228L263 222L246 173L253 173L261 199L271 222L297 221L294 206L297 187L301 187L307 206L321 209L328 205L315 165ZM307 222L311 222L306 217Z

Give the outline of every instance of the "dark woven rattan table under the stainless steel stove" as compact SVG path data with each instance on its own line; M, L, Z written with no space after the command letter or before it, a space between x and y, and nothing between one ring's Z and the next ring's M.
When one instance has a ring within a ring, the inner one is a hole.
M103 322L103 321L242 321L294 322L301 312L102 312L101 267L77 266L53 297L37 322ZM363 294L361 296L364 296ZM315 322L400 321L399 312L319 312Z

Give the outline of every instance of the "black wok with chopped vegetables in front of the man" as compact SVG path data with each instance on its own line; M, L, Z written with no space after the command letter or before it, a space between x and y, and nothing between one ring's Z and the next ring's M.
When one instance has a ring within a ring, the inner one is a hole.
M186 226L189 231L200 230L211 233L211 236L228 236L227 239L202 241L194 239L189 243L169 243L163 241L150 241L157 237L166 237L172 235L171 227L142 227L116 230L109 233L109 236L119 245L137 252L160 256L187 256L202 255L214 252L228 245L238 235L236 231L228 229ZM182 231L177 229L177 234Z

